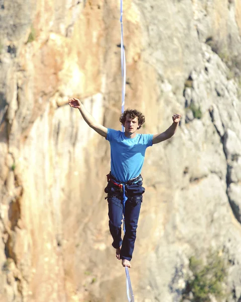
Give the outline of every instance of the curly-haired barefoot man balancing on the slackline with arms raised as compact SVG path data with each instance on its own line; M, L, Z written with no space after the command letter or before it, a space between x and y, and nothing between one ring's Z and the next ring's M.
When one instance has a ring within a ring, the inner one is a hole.
M111 172L107 175L109 228L116 249L116 258L122 259L122 265L131 267L130 261L136 239L137 222L142 202L140 175L145 150L152 144L164 141L174 135L181 115L173 115L173 124L163 133L137 134L145 122L143 114L137 110L126 110L120 117L125 132L106 128L93 118L78 99L69 99L69 105L78 108L87 124L104 136L111 146ZM121 224L124 214L125 235L121 238Z

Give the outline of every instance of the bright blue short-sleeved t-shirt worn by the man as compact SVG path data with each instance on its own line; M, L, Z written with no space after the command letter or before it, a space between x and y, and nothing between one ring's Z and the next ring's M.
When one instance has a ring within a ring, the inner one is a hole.
M145 150L152 145L153 134L136 134L128 138L124 132L108 128L111 146L111 174L126 183L137 177L144 163Z

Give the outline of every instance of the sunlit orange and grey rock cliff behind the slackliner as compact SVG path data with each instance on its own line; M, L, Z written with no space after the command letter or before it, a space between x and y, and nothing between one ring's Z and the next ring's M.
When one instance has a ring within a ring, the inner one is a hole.
M135 300L178 302L192 255L228 251L241 299L241 2L124 0L126 108L145 133ZM108 230L108 142L68 97L120 129L119 3L0 0L0 300L126 300Z

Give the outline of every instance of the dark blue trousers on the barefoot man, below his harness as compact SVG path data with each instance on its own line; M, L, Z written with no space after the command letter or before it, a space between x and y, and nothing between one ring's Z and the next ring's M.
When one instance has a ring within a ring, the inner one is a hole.
M134 244L136 239L137 222L139 218L142 194L145 188L142 187L142 179L136 184L126 184L125 191L127 200L125 203L125 234L121 238L121 224L123 218L123 204L120 192L110 181L105 189L108 193L108 208L109 208L109 228L113 238L112 246L118 249L121 246L121 259L132 259Z

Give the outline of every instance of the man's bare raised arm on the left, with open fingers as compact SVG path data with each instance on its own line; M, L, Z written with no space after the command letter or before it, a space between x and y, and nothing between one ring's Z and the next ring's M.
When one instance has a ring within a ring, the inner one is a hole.
M93 128L97 133L104 136L105 138L107 137L107 128L97 123L94 117L85 109L81 101L75 98L68 99L68 104L70 107L77 108L79 112L81 112L84 120L91 128Z

